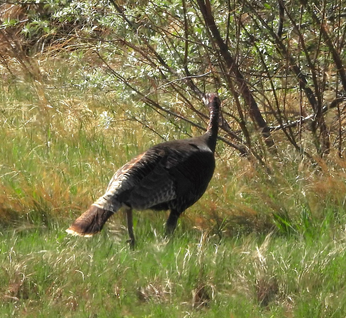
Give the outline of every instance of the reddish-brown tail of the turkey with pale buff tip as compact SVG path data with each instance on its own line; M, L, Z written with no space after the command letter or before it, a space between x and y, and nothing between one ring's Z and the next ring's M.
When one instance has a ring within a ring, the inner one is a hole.
M102 230L104 223L112 214L112 211L91 205L88 210L73 222L66 232L72 235L91 237Z

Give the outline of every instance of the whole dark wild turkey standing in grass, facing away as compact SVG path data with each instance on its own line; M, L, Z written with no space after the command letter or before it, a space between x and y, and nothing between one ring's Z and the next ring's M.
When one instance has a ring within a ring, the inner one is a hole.
M113 175L106 193L66 232L90 237L124 206L132 247L132 209L171 210L166 232L173 233L179 215L203 195L215 169L220 99L217 94L208 93L203 102L210 111L205 134L161 143L133 158Z

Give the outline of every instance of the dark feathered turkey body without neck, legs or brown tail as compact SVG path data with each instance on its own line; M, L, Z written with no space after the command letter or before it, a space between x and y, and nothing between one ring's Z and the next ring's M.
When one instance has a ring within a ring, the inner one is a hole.
M202 196L215 169L213 152L203 138L196 139L162 143L135 157L95 204L108 210L121 203L135 210L184 211Z

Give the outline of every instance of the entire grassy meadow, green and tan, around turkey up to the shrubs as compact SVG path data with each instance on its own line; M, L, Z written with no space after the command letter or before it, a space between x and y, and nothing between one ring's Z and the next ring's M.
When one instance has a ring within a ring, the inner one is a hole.
M114 102L121 92L78 86L75 63L42 61L38 83L2 70L0 317L345 317L346 176L333 156L317 169L279 150L268 176L219 143L171 241L167 213L150 211L135 212L135 251L121 213L94 238L68 236L113 172L161 142L133 120L143 109Z

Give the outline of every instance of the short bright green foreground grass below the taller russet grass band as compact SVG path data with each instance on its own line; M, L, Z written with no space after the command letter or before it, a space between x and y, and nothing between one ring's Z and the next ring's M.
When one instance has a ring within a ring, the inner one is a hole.
M60 226L3 232L1 317L345 315L344 230L318 242L274 234L219 242L179 228L166 242L152 227L143 225L151 235L137 237L135 251L107 230L88 240Z

